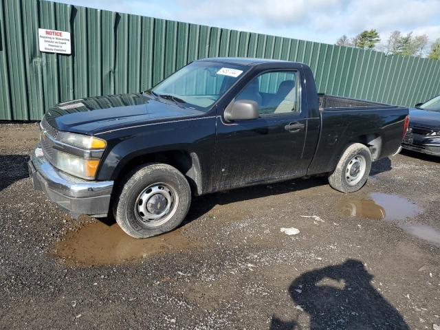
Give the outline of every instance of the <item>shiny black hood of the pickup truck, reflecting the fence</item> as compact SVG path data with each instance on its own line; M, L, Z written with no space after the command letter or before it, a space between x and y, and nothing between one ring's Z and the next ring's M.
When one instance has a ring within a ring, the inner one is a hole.
M200 115L202 112L144 94L82 98L54 105L45 120L59 131L93 134L133 124Z

